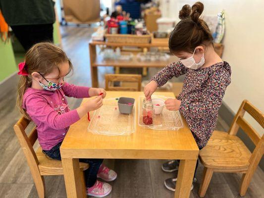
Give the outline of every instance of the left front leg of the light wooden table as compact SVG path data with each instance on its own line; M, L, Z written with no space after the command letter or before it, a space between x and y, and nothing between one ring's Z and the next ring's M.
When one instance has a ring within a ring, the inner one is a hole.
M62 158L62 167L67 198L87 198L83 188L79 159Z

